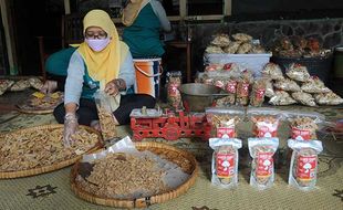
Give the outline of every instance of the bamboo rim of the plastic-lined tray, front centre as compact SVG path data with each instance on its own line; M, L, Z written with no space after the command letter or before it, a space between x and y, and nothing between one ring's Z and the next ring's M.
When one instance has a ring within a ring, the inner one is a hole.
M71 171L72 191L81 199L84 199L89 202L96 204L118 207L118 208L146 208L154 203L160 203L174 199L185 193L195 183L196 178L198 176L198 165L195 157L188 151L184 151L176 147L162 143L135 143L135 145L138 150L149 150L156 155L162 156L165 159L168 159L169 161L177 164L183 168L185 172L190 175L189 179L174 190L152 196L148 198L139 198L135 200L101 198L81 189L77 186L75 181L79 171L79 161L77 161L73 166ZM189 160L191 167L183 165L184 159Z

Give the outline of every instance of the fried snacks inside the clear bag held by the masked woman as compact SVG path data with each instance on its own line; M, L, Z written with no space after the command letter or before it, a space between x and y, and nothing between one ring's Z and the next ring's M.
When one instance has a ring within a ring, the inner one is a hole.
M100 119L100 127L104 140L108 140L117 137L115 122L111 112L96 105L97 115Z

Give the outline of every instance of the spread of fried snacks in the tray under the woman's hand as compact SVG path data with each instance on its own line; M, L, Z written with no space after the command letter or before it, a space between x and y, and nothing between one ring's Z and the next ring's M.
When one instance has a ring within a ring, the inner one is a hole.
M63 146L63 127L23 130L4 135L0 141L0 171L19 171L51 166L89 151L97 135L81 128Z

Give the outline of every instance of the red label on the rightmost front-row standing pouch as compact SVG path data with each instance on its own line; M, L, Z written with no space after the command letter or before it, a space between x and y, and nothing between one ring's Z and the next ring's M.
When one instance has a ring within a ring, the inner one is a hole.
M297 177L302 180L313 179L316 170L316 156L299 156Z

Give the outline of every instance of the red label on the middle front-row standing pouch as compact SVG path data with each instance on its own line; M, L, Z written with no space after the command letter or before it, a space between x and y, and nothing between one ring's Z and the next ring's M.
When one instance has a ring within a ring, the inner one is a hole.
M269 177L273 170L273 153L258 153L257 154L257 177Z

